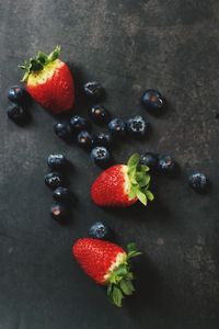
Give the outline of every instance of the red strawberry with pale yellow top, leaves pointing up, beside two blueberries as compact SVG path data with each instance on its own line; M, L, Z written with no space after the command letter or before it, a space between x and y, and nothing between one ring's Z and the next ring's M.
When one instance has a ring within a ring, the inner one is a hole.
M60 47L50 55L38 53L35 59L20 66L25 70L22 81L31 97L53 113L70 110L74 104L74 82L69 67L58 59Z

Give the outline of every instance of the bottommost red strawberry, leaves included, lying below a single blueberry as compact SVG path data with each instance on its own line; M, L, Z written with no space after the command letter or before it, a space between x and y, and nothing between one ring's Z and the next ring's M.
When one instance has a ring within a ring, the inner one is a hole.
M122 247L100 239L83 238L76 241L72 252L83 271L97 284L107 286L110 299L118 307L124 295L135 291L131 281L130 259L141 254L135 243Z

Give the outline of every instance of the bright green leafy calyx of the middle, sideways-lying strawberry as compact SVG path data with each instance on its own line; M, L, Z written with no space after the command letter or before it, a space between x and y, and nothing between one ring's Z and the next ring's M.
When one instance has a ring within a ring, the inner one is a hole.
M145 206L149 201L153 201L154 196L149 191L150 174L148 173L149 168L145 164L140 164L140 156L134 154L127 163L128 167L128 179L129 179L129 200L137 197Z

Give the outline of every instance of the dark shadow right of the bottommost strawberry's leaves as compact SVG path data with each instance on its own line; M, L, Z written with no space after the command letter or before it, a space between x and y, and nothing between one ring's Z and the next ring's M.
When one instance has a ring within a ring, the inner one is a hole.
M135 293L125 298L124 306L130 316L136 317L143 309L159 305L162 279L154 263L143 254L134 262L132 270Z

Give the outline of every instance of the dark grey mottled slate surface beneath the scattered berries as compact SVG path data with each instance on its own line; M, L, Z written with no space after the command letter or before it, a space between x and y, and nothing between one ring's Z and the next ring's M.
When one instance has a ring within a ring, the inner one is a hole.
M0 328L219 328L218 19L217 0L0 1ZM56 138L56 118L36 104L24 128L7 118L5 92L21 77L18 64L56 44L76 75L76 112L87 113L80 86L94 79L107 90L113 115L150 120L151 137L119 144L117 161L155 150L181 164L177 179L154 182L150 207L95 207L88 186L100 170ZM150 87L170 103L160 118L139 103ZM45 158L55 151L74 166L78 202L68 227L49 218L51 193L43 183ZM207 195L187 188L194 169L210 178ZM123 309L108 304L71 257L72 241L96 219L108 223L122 245L136 240L145 252L136 263L137 292Z

